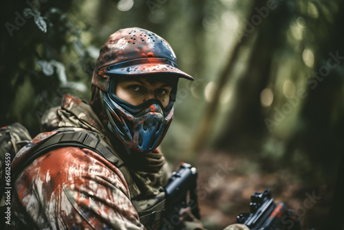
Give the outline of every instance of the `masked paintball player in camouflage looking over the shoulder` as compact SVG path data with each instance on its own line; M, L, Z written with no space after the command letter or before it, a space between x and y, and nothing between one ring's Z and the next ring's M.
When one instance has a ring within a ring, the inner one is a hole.
M158 146L180 77L193 81L160 36L140 28L112 34L90 105L65 95L43 117L45 132L14 158L12 227L159 229L171 172ZM202 228L191 214L183 223Z

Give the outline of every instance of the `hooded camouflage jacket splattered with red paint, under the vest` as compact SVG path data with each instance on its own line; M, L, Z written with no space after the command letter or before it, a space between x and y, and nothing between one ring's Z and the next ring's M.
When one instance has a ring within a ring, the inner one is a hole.
M50 132L39 134L19 151L12 171L25 163L35 145L54 135L54 129L96 132L111 145L92 108L72 96L66 95L61 107L45 114L43 121L43 127ZM61 147L48 151L12 181L11 227L145 229L138 211L147 210L164 198L160 188L166 184L170 171L158 149L140 157L136 160L144 168L127 167L123 173L89 149ZM128 171L129 177L124 175Z

